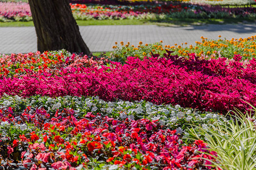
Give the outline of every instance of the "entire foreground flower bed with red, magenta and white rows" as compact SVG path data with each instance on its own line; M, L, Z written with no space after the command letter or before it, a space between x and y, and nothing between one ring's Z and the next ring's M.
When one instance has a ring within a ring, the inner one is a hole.
M253 43L248 40L240 42ZM214 163L225 165L224 152L218 150L218 157L209 150L204 141L212 138L204 133L214 125L224 130L235 125L229 117L207 111L249 111L245 101L256 105L256 59L244 61L239 54L232 59L179 57L169 50L163 53L159 46L145 48L158 48L155 52L162 52L161 56L124 57L125 63L119 63L111 61L118 57L89 58L65 50L1 55L0 168L213 169ZM255 128L254 119L246 118L240 129L247 124ZM203 128L204 133L192 126ZM247 143L245 148L251 148Z

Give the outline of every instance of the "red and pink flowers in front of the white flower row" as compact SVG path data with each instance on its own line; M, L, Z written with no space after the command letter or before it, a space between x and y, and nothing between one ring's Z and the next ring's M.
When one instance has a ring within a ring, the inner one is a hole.
M192 158L213 160L197 153L207 152L203 141L184 146L176 130L166 129L157 120L119 121L92 113L77 117L68 109L50 116L31 107L22 114L10 108L1 110L0 118L0 158L7 163L19 160L30 169L195 169L203 167L205 161ZM27 121L30 126L24 124Z

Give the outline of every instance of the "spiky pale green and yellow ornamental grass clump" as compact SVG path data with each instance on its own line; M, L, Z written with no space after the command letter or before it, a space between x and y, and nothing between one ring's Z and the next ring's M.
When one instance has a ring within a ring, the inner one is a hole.
M253 112L256 108L253 107ZM233 112L233 111L232 111ZM188 130L193 139L204 139L217 162L213 167L220 169L256 169L256 133L255 117L236 109L230 121L208 124L208 127L194 126ZM205 159L205 158L203 158Z

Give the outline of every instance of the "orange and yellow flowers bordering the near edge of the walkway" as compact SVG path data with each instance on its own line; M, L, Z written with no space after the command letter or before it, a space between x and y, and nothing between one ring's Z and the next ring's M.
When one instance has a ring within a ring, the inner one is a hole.
M143 44L139 42L138 46L134 46L127 42L120 42L121 46L115 42L113 46L114 52L111 54L114 61L125 62L128 56L135 56L143 58L143 56L150 57L151 52L163 56L166 50L174 51L173 54L188 57L189 53L195 53L197 57L209 58L233 58L234 55L241 54L242 59L252 59L256 57L256 36L247 37L246 39L220 39L209 40L201 37L202 41L196 41L196 46L189 45L187 42L182 44L163 45L163 41L155 44Z

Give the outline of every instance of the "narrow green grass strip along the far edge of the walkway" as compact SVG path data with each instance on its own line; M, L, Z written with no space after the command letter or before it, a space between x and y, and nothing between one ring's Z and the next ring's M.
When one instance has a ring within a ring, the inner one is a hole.
M227 23L244 23L255 22L255 19L178 19L171 18L168 20L77 20L80 26L86 25L164 25L164 26L186 26L201 24L227 24ZM0 22L0 27L34 27L30 22Z

